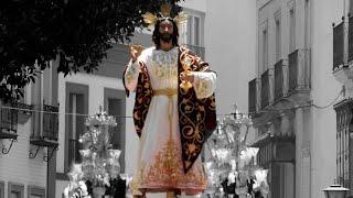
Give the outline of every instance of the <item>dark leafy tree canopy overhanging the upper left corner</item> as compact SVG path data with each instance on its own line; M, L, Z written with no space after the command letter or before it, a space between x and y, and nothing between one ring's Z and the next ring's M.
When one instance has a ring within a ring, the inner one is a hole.
M110 42L129 40L141 14L180 0L0 1L0 99L19 99L23 87L60 58L58 73L92 73Z

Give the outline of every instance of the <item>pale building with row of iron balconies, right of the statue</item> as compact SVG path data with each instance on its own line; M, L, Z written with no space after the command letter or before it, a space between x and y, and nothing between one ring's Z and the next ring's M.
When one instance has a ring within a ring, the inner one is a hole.
M344 1L257 0L257 66L248 82L258 163L271 198L324 197L336 178L341 86L330 74Z

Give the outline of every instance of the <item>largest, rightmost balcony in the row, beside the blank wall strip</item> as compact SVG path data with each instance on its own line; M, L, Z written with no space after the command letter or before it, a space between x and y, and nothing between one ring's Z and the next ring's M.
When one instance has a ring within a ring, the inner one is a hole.
M310 50L297 50L288 55L289 95L310 90Z

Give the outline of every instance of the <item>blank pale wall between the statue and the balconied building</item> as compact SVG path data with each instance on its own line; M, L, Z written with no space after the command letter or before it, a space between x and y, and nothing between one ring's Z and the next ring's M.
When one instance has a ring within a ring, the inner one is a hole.
M205 59L217 73L218 117L248 110L248 81L255 74L256 1L207 0Z

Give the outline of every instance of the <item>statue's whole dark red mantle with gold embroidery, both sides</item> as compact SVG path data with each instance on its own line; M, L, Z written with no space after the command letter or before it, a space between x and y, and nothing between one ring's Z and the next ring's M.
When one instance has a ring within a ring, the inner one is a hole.
M188 48L179 47L179 56L185 51L188 51L186 53L191 54ZM212 72L207 63L202 62L201 58L195 55L193 56L195 57L195 63L192 65L193 72ZM183 68L179 61L178 76L181 72L183 72ZM125 84L124 80L122 82ZM180 82L181 81L179 79L178 85L180 85ZM127 96L129 96L129 91L127 89L126 91ZM141 72L138 78L135 107L132 111L136 132L139 136L141 135L148 113L148 108L152 98L152 91L153 90L151 89L147 67L141 63ZM217 125L214 94L208 98L197 99L194 89L190 89L188 92L185 92L183 89L179 88L178 112L180 139L182 144L182 160L184 172L188 173L200 155L204 142Z

